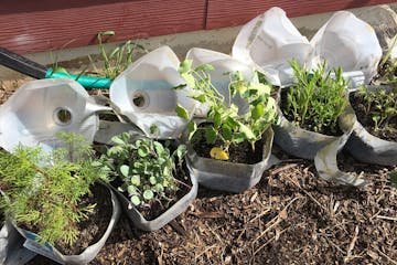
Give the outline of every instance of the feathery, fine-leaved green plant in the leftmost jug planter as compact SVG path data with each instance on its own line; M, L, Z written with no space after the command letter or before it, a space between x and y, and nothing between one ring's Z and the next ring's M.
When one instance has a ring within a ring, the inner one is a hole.
M17 224L36 229L43 242L72 245L79 233L76 224L95 208L78 208L78 202L95 181L107 179L107 171L87 158L92 149L82 136L60 137L77 145L50 153L21 145L12 153L0 151L0 188L6 194L0 209ZM74 162L68 160L69 150L81 151Z

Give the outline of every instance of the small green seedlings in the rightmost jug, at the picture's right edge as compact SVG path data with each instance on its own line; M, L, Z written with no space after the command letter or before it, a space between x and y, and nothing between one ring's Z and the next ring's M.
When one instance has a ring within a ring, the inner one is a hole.
M397 87L387 92L383 88L368 91L361 86L356 96L362 97L362 109L373 120L375 131L390 128L390 120L397 117Z

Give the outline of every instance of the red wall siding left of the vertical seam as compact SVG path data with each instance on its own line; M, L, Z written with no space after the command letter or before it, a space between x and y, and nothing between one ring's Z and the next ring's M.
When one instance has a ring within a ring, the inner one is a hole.
M99 31L112 41L202 30L206 0L2 0L0 45L17 53L93 44Z

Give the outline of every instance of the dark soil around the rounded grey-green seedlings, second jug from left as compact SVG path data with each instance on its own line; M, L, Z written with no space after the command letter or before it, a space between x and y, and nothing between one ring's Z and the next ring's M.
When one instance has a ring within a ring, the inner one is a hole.
M146 206L138 206L137 209L142 214L142 216L148 220L154 220L158 216L160 216L162 213L164 213L168 209L170 209L175 202L178 202L181 198L183 198L185 194L187 194L191 190L191 187L193 186L190 177L187 174L187 168L183 166L183 168L178 167L175 173L175 179L180 182L176 182L178 190L171 191L167 193L167 197L171 200L155 200L151 202L149 205ZM115 186L119 187L119 186ZM128 198L128 193L125 192L125 197Z

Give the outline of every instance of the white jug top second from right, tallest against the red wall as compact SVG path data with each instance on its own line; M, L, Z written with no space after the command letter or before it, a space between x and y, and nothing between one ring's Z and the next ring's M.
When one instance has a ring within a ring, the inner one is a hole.
M271 8L242 28L232 55L255 66L273 85L285 86L293 81L289 62L311 62L313 47L282 9Z

